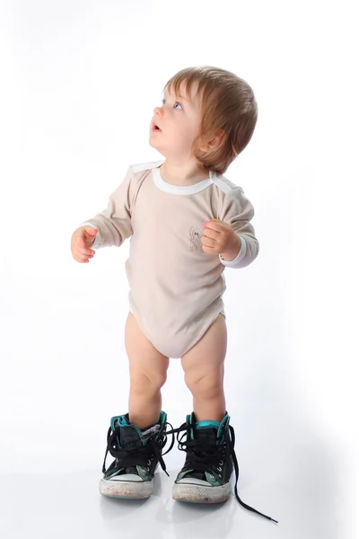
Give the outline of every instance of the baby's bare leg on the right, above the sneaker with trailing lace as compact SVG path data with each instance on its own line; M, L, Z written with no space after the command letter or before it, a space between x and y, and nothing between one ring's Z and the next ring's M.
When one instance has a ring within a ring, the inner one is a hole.
M185 381L193 395L197 421L223 420L224 358L227 350L227 326L219 314L197 344L181 358Z

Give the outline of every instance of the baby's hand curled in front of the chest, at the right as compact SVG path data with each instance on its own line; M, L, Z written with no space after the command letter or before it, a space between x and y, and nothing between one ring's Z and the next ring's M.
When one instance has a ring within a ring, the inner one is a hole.
M202 250L207 254L220 254L229 261L234 260L241 250L241 238L232 227L219 219L211 219L203 225Z

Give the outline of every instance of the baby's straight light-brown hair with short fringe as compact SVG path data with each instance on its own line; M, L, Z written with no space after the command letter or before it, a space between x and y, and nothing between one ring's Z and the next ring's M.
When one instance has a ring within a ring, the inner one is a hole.
M230 71L213 66L186 67L164 87L179 93L184 84L188 97L197 85L201 103L199 136L192 146L199 168L223 173L250 142L258 118L258 105L250 84ZM219 137L220 145L204 152L199 148Z

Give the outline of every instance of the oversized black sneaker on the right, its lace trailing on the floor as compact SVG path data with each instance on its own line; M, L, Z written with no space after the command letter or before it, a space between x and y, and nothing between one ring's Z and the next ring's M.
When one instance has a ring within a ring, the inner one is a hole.
M238 495L239 469L234 453L234 429L229 425L230 416L226 412L223 420L198 421L195 413L188 415L186 423L179 429L168 430L166 434L177 432L180 451L186 452L186 461L177 475L172 489L172 498L197 503L221 503L231 496L231 477L234 470L236 482L234 491L243 508L249 509L278 523L274 518L259 513L243 503ZM181 431L183 435L179 439ZM231 436L230 436L231 433Z

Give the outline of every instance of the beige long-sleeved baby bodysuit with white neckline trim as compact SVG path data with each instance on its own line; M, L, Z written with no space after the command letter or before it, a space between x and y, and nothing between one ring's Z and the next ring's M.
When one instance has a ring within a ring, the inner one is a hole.
M224 268L248 266L259 244L250 224L254 208L240 186L216 172L194 185L173 185L162 179L162 163L131 165L108 208L82 225L99 230L94 249L130 238L129 309L156 349L181 358L218 314L225 316ZM241 236L233 261L202 250L203 223L212 218Z

